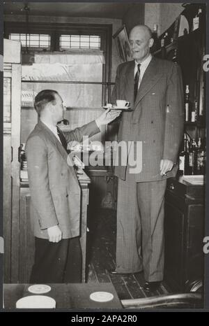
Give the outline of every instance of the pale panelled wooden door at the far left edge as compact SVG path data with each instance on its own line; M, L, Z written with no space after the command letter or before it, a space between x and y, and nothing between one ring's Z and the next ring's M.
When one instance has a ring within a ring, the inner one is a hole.
M3 260L4 282L17 283L20 209L20 42L5 40L3 56Z

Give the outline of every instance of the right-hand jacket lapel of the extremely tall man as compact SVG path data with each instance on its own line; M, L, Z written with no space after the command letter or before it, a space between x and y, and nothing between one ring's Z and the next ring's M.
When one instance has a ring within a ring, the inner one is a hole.
M153 59L151 59L150 63L148 64L148 67L141 80L134 107L137 106L139 101L141 101L141 99L146 95L146 93L157 83L157 80L159 80L161 76L162 71L160 70L160 67L157 64L157 60L155 59L155 57L153 57Z

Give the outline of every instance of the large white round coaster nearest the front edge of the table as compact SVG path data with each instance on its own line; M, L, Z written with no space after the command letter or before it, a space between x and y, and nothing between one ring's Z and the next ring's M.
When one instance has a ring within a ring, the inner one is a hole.
M54 309L56 307L56 301L45 295L29 295L23 297L16 302L16 308L18 309Z

